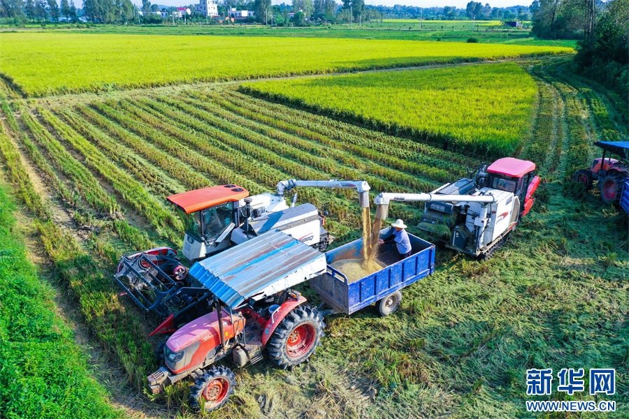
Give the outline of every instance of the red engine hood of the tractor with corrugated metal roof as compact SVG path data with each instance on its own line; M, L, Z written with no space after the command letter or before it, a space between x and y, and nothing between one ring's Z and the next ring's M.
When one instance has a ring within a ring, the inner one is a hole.
M233 314L234 324L231 324L229 311L222 310L222 318L225 339L231 339L245 328L245 318L238 313ZM188 362L185 367L177 369L173 371L173 373L178 374L201 364L201 362L205 360L205 356L208 355L208 352L221 344L219 333L217 311L205 314L205 316L191 321L187 325L182 326L177 332L173 333L173 336L166 341L166 346L173 352L182 351L191 344L197 341L200 342L194 355L192 355L191 361Z

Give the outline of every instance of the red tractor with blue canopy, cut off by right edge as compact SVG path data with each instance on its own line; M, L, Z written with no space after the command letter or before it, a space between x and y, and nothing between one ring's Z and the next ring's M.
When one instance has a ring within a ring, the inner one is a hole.
M584 184L591 189L594 181L598 182L600 198L606 204L619 204L625 179L629 178L629 141L599 141L595 146L602 148L600 159L594 159L589 169L574 173L574 182ZM605 157L605 154L616 154L620 159Z

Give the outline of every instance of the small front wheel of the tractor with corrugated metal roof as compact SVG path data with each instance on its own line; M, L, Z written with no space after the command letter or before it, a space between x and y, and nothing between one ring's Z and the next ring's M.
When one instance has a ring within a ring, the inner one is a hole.
M196 378L189 402L194 411L211 412L223 406L236 387L236 376L226 367L212 367Z

